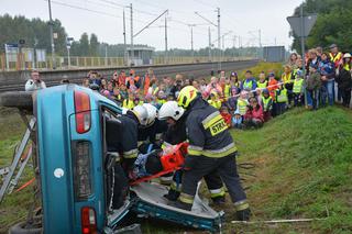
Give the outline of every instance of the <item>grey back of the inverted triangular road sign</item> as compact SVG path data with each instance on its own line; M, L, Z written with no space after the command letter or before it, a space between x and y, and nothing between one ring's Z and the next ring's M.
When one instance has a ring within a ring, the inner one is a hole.
M298 37L307 37L315 25L317 21L318 15L317 14L309 14L306 16L302 16L304 22L301 23L301 18L300 16L289 16L287 18L287 21L290 25L290 27L294 30L294 33ZM301 24L302 24L302 30L301 30Z

